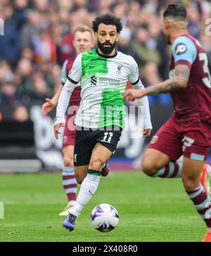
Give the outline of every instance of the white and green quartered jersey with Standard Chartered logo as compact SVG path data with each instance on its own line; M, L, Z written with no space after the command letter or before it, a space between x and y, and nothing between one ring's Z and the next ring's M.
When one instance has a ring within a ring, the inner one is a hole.
M127 81L139 82L139 68L132 56L120 51L114 56L102 56L96 50L83 52L75 59L68 80L82 87L77 126L124 128L122 92Z

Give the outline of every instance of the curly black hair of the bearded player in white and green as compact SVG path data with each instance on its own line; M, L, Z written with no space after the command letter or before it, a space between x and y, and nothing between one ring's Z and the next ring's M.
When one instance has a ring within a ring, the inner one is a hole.
M103 23L106 25L115 25L117 28L117 33L120 33L122 30L122 23L120 21L120 18L117 18L110 13L106 13L103 16L97 17L95 20L92 22L92 29L94 32L98 32L98 26Z

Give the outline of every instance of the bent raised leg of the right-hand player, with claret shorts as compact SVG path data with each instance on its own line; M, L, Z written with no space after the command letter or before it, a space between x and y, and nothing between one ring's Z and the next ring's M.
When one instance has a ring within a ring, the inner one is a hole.
M177 178L182 169L182 164L177 161L180 155L181 135L177 123L170 118L148 145L142 159L142 170L153 178Z

